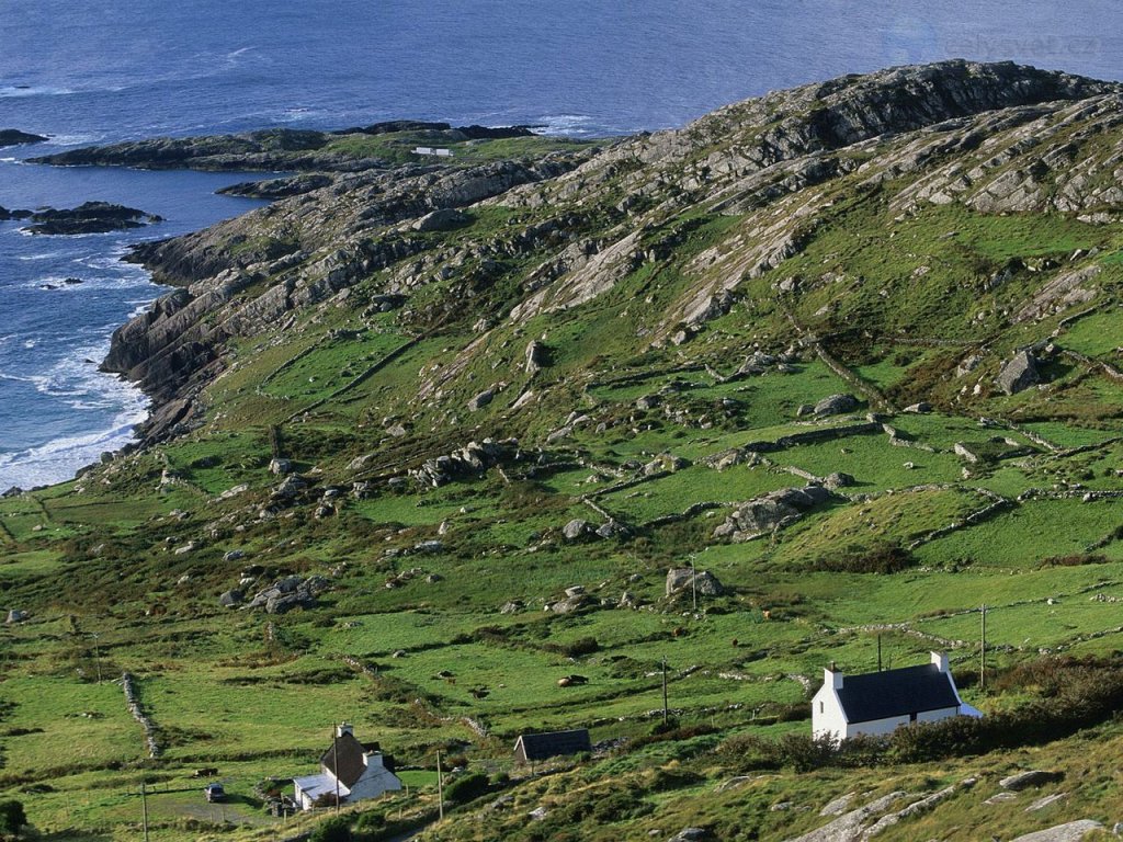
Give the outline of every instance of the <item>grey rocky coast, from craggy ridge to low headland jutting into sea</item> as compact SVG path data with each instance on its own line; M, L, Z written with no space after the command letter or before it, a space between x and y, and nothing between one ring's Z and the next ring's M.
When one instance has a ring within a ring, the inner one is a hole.
M922 156L931 154L912 155L915 144L910 132L919 132L917 143L933 137L941 148L966 152L989 135L1015 132L1029 120L1075 108L1077 102L1084 103L1081 119L1106 120L1121 92L1119 84L1063 73L957 61L806 85L727 107L684 129L600 148L551 152L537 159L408 162L343 172L338 150L330 159L323 157L332 137L394 138L408 130L413 143L417 131L444 138L466 134L439 123L381 123L344 135L267 130L226 138L158 139L39 161L200 168L246 168L255 163L272 167L283 162L285 168L308 171L253 189L231 187L275 201L203 231L144 244L130 256L157 282L181 287L119 328L102 364L153 397L153 413L140 433L154 442L190 429L200 418L202 391L223 370L228 340L273 331L309 309L346 296L372 276L385 277L380 300L403 308L403 321L414 330L455 318L456 295L483 293L477 299L483 323L485 290L502 271L502 260L540 254L541 265L522 282L521 301L497 314L522 322L536 313L588 301L645 260L658 259L658 249L645 251L637 238L663 225L658 219L670 219L695 202L705 201L721 213L780 205L784 196L859 165L870 168L877 144L888 152L877 153L884 161L877 159L871 177L884 172L884 180L922 166ZM724 152L706 152L719 147ZM623 196L601 186L626 166L639 168L642 176L632 180ZM1041 202L1057 200L1030 190L1023 182L1034 176L1023 175L1002 195L988 189L968 201L993 212L1041 210ZM509 208L545 203L556 205L558 213L545 223L528 225L500 251L494 244L473 238L441 250L426 234L424 219L430 214L486 205L500 195ZM576 198L581 202L574 204ZM1092 210L1103 198L1089 193L1072 196L1071 202L1077 211L1084 205ZM587 210L591 205L596 210ZM652 207L655 211L645 211L645 221L637 221L640 210ZM813 211L805 208L800 213L813 216ZM583 239L578 232L588 229L591 220L599 234ZM765 225L743 265L716 282L700 274L668 308L652 341L678 344L678 337L690 341L731 305L731 282L724 278L755 276L798 253L793 220L797 217L785 214L775 225ZM672 246L668 241L665 248ZM449 301L414 312L410 296L431 281L433 272L448 272L441 267L454 264L473 268Z

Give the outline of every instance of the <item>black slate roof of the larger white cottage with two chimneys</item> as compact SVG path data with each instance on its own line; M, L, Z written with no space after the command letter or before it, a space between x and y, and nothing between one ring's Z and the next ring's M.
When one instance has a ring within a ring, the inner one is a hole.
M844 676L838 694L847 722L869 722L959 705L948 674L934 663Z

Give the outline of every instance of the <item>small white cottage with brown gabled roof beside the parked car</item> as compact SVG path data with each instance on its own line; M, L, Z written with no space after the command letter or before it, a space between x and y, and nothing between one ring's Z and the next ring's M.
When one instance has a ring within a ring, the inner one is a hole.
M346 722L336 727L332 744L320 758L320 774L292 782L301 809L311 809L318 802L334 804L337 796L340 803L357 802L402 788L402 781L385 767L378 747L356 740Z

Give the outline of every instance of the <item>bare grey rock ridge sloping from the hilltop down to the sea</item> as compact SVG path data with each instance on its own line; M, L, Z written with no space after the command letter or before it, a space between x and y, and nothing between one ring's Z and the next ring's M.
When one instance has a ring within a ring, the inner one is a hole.
M467 319L467 323L486 332L604 296L640 266L672 259L692 236L694 223L684 214L742 218L691 260L683 291L655 317L652 344L690 342L736 305L745 278L805 248L824 225L832 182L865 191L893 184L900 192L891 201L904 214L944 202L983 213L1099 213L1123 205L1123 193L1115 196L1105 176L1120 166L1117 154L1097 147L1099 157L1084 161L1079 182L1060 158L1048 173L1030 165L1044 152L1040 144L1048 140L1040 138L1078 147L1123 123L1121 100L1123 86L1114 83L955 61L770 93L681 130L601 149L311 172L298 187L267 187L282 196L268 208L137 249L134 259L158 281L183 289L120 328L103 367L153 394L147 433L158 439L190 418L199 391L222 369L228 339L270 333L341 301L360 283L368 290L363 301L393 301L400 322L417 333ZM246 155L268 162L295 153L307 158L301 168L332 168L316 158L329 143L320 132L197 140L190 149L170 145L165 163L194 166L202 157L234 155L244 165ZM118 147L85 153L112 163L140 159L133 154ZM1069 149L1065 159L1076 154ZM450 226L455 238L438 236L448 226L432 230L422 221L450 209L460 214ZM496 231L476 221L492 209L515 216ZM521 268L527 265L535 268ZM438 283L447 289L436 304L430 299L416 309L413 296ZM800 287L779 292L797 295ZM481 347L469 345L441 382Z

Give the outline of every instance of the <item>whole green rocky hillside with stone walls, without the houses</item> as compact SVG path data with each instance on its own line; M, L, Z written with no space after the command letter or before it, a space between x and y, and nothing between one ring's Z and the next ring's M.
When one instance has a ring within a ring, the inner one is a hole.
M436 818L438 751L465 804L418 839L1106 838L1121 106L950 62L441 163L347 135L400 154L143 247L179 289L106 367L144 446L0 500L0 795L47 839L135 839L141 780L153 840L295 839L255 786L348 720L410 784L355 839ZM1001 726L804 739L825 665L929 649ZM593 757L512 767L568 727Z

